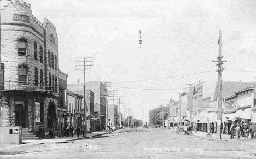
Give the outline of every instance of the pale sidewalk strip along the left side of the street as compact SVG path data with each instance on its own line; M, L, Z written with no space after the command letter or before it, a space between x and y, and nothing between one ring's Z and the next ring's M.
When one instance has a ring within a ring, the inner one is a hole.
M105 131L100 132L92 132L87 133L88 138L94 138L97 136L102 136L105 134ZM79 136L77 137L77 134L74 134L73 137L62 137L62 138L51 138L51 139L39 139L39 140L22 140L23 143L65 143L65 142L72 142L75 140L85 139L85 137Z

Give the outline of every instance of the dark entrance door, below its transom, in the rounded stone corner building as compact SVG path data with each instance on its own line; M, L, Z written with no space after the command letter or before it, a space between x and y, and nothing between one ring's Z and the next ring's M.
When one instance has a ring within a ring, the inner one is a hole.
M27 111L25 107L21 107L21 106L15 107L16 126L22 126L23 128L27 127L26 115L27 115Z

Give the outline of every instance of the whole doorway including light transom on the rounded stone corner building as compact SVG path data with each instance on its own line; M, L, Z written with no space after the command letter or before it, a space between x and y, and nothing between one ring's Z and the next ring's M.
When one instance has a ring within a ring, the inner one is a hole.
M24 101L15 101L15 125L27 127L27 109Z

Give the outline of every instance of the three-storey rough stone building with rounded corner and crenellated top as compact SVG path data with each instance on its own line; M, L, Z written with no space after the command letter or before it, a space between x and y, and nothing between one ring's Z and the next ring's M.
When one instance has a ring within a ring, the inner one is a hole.
M58 38L55 26L32 15L31 5L1 1L1 125L43 125L57 119Z

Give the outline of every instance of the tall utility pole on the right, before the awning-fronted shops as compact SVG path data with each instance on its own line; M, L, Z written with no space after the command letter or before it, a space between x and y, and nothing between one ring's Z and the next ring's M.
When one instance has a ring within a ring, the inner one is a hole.
M222 134L220 133L221 125L222 125L222 71L223 64L225 61L222 60L222 30L219 30L219 52L216 61L212 60L212 62L217 62L216 66L218 66L218 96L217 96L217 139L222 139Z

